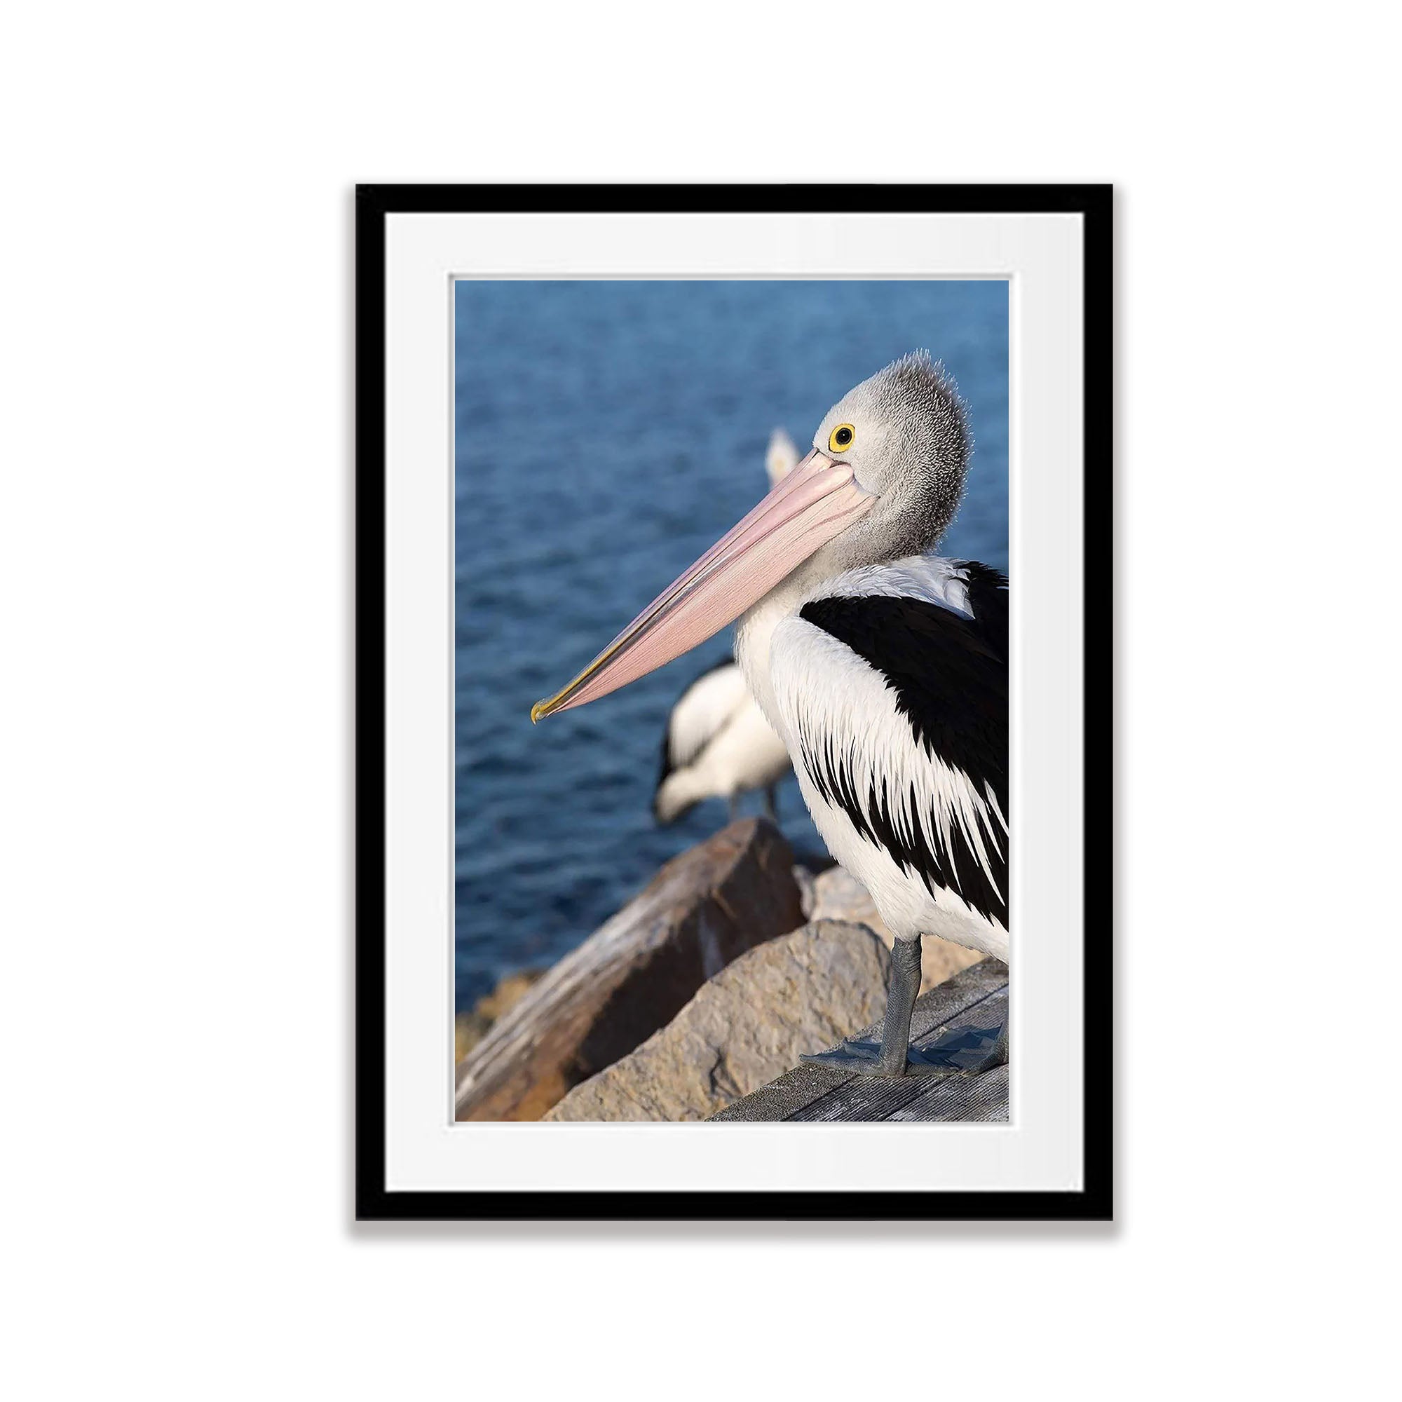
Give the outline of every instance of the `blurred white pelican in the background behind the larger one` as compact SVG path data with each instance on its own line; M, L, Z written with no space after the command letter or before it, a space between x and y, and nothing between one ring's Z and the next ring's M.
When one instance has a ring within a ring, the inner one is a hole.
M774 429L764 454L770 486L798 463L798 449L784 429ZM659 823L674 823L707 798L729 801L736 815L740 794L764 789L764 808L778 822L778 782L789 770L788 750L760 712L735 662L702 672L667 716L662 767L652 796Z

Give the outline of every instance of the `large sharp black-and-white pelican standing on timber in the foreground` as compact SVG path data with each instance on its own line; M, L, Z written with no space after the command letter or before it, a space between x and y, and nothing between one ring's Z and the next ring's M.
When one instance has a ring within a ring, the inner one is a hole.
M910 1049L923 935L1008 958L1008 593L934 554L970 437L917 350L827 411L812 451L531 719L583 705L739 618L736 659L833 857L896 937L879 1043L806 1056L871 1077L958 1074ZM1007 1060L1004 1028L969 1071Z

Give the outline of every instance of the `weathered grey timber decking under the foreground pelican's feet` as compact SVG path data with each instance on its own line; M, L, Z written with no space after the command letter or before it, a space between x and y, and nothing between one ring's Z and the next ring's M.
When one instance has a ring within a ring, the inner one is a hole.
M910 1044L941 1043L953 1066L979 1060L1008 1015L1008 966L984 959L931 988L916 1002ZM857 1033L879 1039L880 1023ZM1005 1120L1008 1068L981 1075L869 1080L816 1066L799 1066L751 1095L728 1105L715 1120Z

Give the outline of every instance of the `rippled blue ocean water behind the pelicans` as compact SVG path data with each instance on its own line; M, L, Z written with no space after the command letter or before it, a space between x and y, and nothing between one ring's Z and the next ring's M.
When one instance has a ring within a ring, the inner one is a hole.
M806 451L831 404L920 346L974 436L942 548L1007 568L1007 283L456 285L458 1008L726 822L715 801L658 829L651 802L667 714L728 634L538 726L531 702L764 495L773 428ZM780 820L823 851L792 778Z

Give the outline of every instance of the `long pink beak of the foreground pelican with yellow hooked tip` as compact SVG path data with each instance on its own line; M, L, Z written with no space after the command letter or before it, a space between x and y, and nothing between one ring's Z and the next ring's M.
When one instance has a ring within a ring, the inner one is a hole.
M705 642L875 503L847 463L815 449L568 687L537 701L531 721L617 691Z

